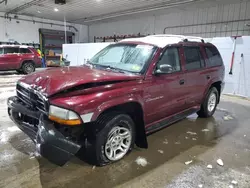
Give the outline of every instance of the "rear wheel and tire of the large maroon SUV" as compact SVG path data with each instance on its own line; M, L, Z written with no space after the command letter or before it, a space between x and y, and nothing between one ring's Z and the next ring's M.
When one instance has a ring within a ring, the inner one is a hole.
M219 92L215 87L212 87L201 105L201 109L197 112L199 117L208 118L213 116L219 99Z

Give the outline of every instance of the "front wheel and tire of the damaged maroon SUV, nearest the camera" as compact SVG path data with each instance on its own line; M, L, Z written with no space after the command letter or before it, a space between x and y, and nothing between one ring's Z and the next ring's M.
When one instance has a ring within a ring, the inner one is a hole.
M107 165L119 161L133 148L135 124L126 114L108 113L97 120L98 130L91 150L94 150L95 164ZM92 157L92 156L91 156ZM93 158L92 158L93 159Z

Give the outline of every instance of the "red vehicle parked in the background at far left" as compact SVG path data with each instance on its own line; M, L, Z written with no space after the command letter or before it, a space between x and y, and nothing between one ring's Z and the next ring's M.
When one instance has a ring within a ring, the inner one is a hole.
M18 73L29 74L41 65L41 56L33 47L0 45L0 71L16 70Z

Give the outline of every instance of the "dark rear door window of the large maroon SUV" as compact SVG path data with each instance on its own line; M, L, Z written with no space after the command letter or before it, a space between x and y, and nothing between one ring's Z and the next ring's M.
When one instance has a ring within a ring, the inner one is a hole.
M186 69L195 70L205 66L199 47L185 47Z

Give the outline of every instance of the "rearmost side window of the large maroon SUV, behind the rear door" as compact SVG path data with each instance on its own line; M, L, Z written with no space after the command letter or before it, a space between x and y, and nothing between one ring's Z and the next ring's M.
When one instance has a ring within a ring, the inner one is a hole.
M207 67L220 66L223 64L219 51L212 46L205 47L205 51L208 57Z

